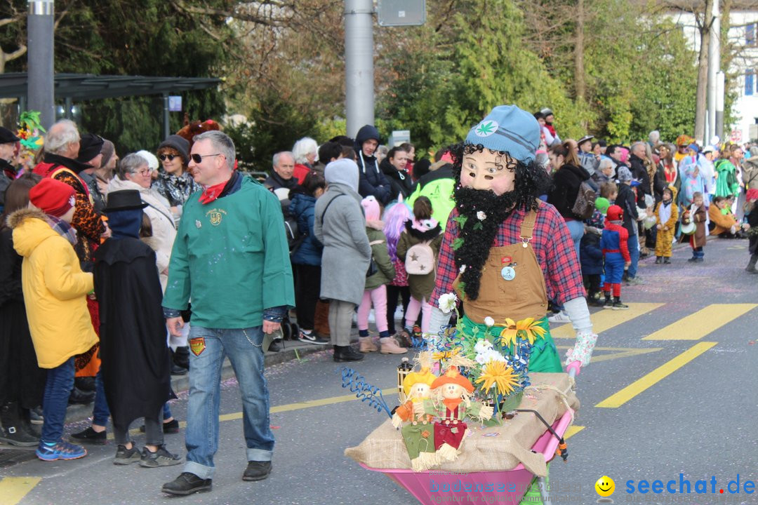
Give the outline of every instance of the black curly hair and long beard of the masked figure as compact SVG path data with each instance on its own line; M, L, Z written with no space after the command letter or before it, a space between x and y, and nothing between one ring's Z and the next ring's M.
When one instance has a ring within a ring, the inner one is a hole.
M550 191L553 179L547 171L538 167L534 161L525 164L522 161L515 163L506 161L510 155L504 151L489 150L490 153L499 154L496 159L497 167L515 172L515 189L503 195L495 195L494 192L482 191L472 188L464 188L461 185L461 166L466 154L484 151L484 145L467 144L461 142L450 146L450 154L453 156L453 173L456 177L456 187L453 198L459 216L460 229L458 248L454 251L456 267L459 269L465 265L461 274L463 291L470 300L476 300L479 296L479 284L481 269L490 255L490 248L500 229L500 224L506 220L515 209L537 210L537 197ZM478 220L477 213L484 212L486 219Z

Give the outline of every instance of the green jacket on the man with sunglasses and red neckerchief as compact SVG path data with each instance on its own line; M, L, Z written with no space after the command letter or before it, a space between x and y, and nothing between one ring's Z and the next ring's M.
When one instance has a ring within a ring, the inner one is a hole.
M277 197L244 177L240 189L203 205L184 204L163 306L186 310L205 328L252 328L263 310L295 304L290 252Z

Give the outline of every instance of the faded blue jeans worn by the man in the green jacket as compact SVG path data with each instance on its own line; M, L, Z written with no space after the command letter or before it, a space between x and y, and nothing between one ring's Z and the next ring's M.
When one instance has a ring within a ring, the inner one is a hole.
M211 479L218 450L221 366L228 356L240 384L248 461L271 461L274 434L269 422L268 387L263 376L262 326L213 329L190 326L189 341L202 338L205 348L189 354L189 401L185 472ZM197 343L197 341L196 341ZM190 346L192 348L192 346Z

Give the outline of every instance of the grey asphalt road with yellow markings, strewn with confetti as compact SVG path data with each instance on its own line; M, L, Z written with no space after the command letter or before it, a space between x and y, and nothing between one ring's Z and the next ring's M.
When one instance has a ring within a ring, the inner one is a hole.
M758 503L756 494L744 492L747 480L758 481L758 276L743 270L747 241L710 241L704 263L688 263L689 255L687 248L676 250L669 266L644 260L645 284L622 290L631 310L594 313L602 331L594 362L577 380L581 409L568 440L568 463L550 467L555 505L596 503L594 483L603 475L615 480L615 503ZM556 344L568 347L571 340L560 337L571 332L559 325L553 331ZM370 354L355 368L368 382L393 388L398 363L399 357ZM322 351L268 369L277 445L274 471L263 482L241 480L245 444L239 391L230 379L222 391L211 493L166 497L161 484L181 466L114 466L110 441L89 447L82 460L29 460L0 469L0 505L416 503L384 475L343 456L384 419L346 398L341 368ZM392 406L394 399L387 397L387 403ZM180 394L172 405L178 419L185 419L185 406L186 394ZM136 435L136 441L143 438ZM167 435L167 444L183 454L181 434ZM729 494L728 482L738 475L741 493ZM711 491L714 477L715 494L695 494L697 480L707 481ZM628 481L636 490L643 479L664 486L675 480L677 493L625 492ZM678 494L680 479L691 483L692 494Z

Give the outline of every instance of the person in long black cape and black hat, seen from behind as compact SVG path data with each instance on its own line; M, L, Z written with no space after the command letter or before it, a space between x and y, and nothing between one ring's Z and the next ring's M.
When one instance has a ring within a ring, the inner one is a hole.
M155 252L139 240L146 206L128 189L109 194L104 209L113 235L95 254L101 371L118 444L114 464L171 466L181 459L164 447L161 417L163 404L176 396ZM139 417L146 429L142 452L129 438L129 425Z

